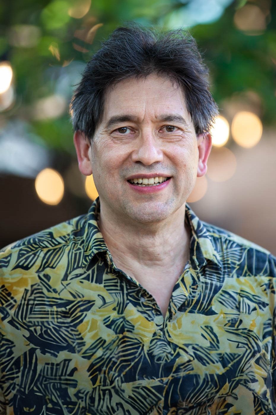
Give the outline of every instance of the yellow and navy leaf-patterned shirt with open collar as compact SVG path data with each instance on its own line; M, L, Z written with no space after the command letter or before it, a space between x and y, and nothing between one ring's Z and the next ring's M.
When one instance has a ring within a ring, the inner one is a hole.
M187 206L163 318L116 268L99 209L0 255L0 414L276 414L276 259Z

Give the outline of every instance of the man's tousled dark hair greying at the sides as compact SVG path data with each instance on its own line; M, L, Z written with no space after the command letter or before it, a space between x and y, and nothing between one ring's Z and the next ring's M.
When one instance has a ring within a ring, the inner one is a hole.
M115 29L87 64L71 101L74 130L92 139L103 116L106 88L154 72L182 87L195 132L209 131L218 109L194 38L181 29L158 34L136 24Z

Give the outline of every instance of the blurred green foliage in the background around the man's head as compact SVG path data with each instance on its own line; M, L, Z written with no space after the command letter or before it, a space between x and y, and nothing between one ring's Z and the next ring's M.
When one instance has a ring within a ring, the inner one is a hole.
M194 1L94 0L81 18L72 17L68 10L85 0L22 0L12 13L9 2L3 2L0 6L0 56L12 64L17 102L16 110L7 109L1 117L11 120L24 117L48 146L73 151L72 129L66 110L58 117L51 115L46 120L37 120L33 117L36 102L58 94L69 104L82 65L118 25L134 20L165 30L175 28L190 16L189 7ZM276 3L271 2L270 15L266 17L267 28L253 34L242 32L234 24L235 13L246 5L246 0L230 3L231 0L228 3L225 0L225 5L229 6L222 10L221 16L190 28L210 67L212 93L221 107L235 93L254 91L263 105L263 121L273 124L276 112ZM262 9L264 2L259 4ZM195 20L198 18L195 16ZM25 34L21 32L23 29ZM38 36L37 41L33 37L29 45L28 30Z

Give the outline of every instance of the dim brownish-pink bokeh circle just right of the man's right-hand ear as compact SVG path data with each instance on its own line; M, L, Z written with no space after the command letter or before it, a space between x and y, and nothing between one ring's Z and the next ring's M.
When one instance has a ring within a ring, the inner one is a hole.
M212 148L208 159L207 176L215 182L229 180L237 169L235 154L226 147Z

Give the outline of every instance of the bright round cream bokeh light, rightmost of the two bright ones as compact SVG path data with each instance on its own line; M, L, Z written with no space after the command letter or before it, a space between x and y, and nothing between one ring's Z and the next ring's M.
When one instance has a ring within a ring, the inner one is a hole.
M242 147L254 147L262 137L262 121L253 112L237 112L231 126L233 139Z

